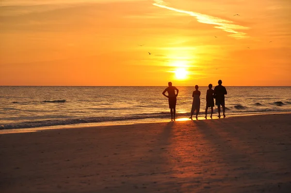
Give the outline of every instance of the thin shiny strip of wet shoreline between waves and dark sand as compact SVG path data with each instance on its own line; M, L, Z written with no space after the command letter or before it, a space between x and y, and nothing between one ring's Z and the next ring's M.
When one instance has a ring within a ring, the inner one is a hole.
M249 113L249 114L231 114L226 115L226 118L229 117L241 117L241 116L256 116L256 115L265 115L265 114L291 114L291 112L270 112L270 113ZM213 115L212 119L219 119L217 114ZM220 119L224 119L223 117ZM199 121L206 120L203 116L198 116L198 120L193 118L190 120L188 117L178 117L176 121ZM211 120L209 114L207 120ZM35 127L35 128L18 128L18 129L0 129L1 134L8 133L24 133L24 132L37 132L51 129L88 129L95 127L106 127L106 126L121 126L121 125L133 125L133 124L148 124L148 123L164 123L171 122L169 118L163 119L135 119L135 120L124 120L124 121L108 121L108 122L93 122L93 123L78 123L78 124L69 124L69 125L55 125L47 127Z

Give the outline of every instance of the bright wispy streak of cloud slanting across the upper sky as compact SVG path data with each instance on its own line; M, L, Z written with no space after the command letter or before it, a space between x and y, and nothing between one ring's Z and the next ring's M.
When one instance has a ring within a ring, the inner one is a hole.
M200 23L206 23L210 25L215 25L214 28L223 30L225 32L229 32L229 36L235 37L235 38L245 38L248 37L247 33L245 32L239 32L239 30L247 30L249 29L248 27L244 27L241 25L234 24L233 21L229 21L226 19L222 19L219 17L214 17L214 16L209 16L205 14L200 14L200 13L195 13L192 11L186 11L186 10L181 10L181 9L176 9L174 7L168 6L167 3L165 3L163 0L154 0L153 5L157 7L161 7L164 9L172 10L178 13L183 13L183 14L188 14L190 16L194 16L198 22Z

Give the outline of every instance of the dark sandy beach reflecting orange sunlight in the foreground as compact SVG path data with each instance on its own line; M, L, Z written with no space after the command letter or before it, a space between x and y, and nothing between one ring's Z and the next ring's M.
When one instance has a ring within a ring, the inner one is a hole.
M291 114L0 135L1 193L290 193Z

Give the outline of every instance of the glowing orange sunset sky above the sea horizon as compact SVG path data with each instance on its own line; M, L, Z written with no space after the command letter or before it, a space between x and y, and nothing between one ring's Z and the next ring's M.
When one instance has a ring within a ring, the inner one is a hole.
M0 85L291 86L290 13L290 0L1 0Z

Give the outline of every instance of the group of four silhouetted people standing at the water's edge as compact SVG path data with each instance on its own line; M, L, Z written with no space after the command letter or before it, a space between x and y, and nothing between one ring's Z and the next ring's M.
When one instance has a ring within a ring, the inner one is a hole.
M218 117L220 118L220 106L222 106L223 117L226 117L226 107L225 107L225 95L227 95L226 87L222 85L222 80L218 80L218 85L214 87L212 90L212 84L208 85L209 89L206 92L206 108L205 108L205 117L207 119L208 108L211 108L210 118L212 118L213 107L214 107L214 98L215 105L217 105ZM196 119L198 119L198 114L200 111L200 91L198 90L198 85L195 85L195 90L193 91L192 97L192 108L191 108L191 116L189 117L191 120L193 119L193 114L196 114ZM177 91L177 92L175 92ZM168 93L166 95L165 93ZM169 109L171 112L171 121L175 121L176 118L176 103L177 96L179 90L175 86L172 85L172 82L168 82L168 87L162 92L163 96L166 96L169 101Z

